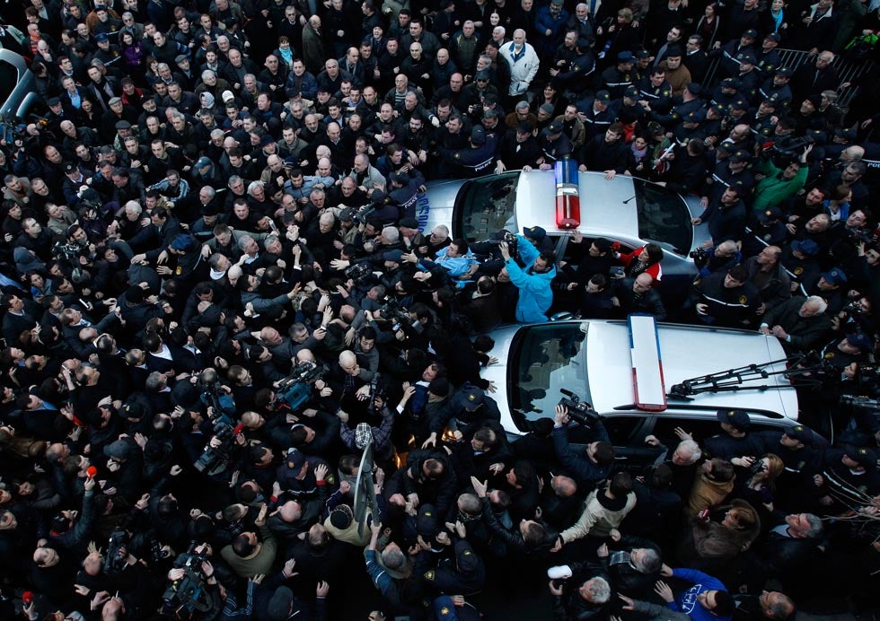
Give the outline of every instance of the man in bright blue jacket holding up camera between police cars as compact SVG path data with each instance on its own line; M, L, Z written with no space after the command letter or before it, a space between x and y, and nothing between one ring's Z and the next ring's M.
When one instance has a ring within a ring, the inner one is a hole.
M510 282L519 289L516 320L520 323L541 323L547 320L547 311L550 311L553 303L550 282L556 276L556 257L552 252L539 252L522 235L517 235L516 241L519 256L527 267L520 267L516 259L511 258L506 241L498 244Z

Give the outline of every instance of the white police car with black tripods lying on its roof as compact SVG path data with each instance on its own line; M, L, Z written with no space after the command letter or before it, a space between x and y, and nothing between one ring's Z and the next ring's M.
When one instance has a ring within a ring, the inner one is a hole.
M697 439L719 433L719 409L744 410L754 431L797 424L796 390L775 337L657 324L650 315L508 326L490 336L491 355L501 363L482 375L497 386L491 396L512 438L526 433L529 422L553 418L562 398L591 404L618 459L636 463L659 453L645 444L648 434L674 438L679 426ZM585 437L584 426L572 420L569 442Z

